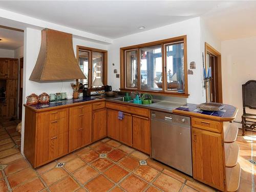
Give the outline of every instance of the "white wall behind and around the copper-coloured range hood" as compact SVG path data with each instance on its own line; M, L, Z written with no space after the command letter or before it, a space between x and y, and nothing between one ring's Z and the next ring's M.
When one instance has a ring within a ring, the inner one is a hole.
M73 90L70 87L70 82L47 82L39 83L30 81L29 77L34 69L39 50L41 45L41 31L36 29L27 28L24 33L24 88L23 88L23 103L26 103L26 97L31 93L40 95L42 92L57 93L57 92L67 92L72 94ZM78 38L73 38L73 49L76 55L76 46L92 47L97 49L106 50L107 46L98 44L96 42L81 40ZM74 81L73 81L74 82ZM25 109L23 107L23 129L22 129L22 153L23 153L23 143L24 143L24 119L25 119Z

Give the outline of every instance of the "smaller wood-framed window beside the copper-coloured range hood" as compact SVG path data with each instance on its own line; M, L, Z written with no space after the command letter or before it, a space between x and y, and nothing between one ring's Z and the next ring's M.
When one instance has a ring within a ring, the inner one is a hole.
M77 46L78 65L87 79L80 79L84 87L89 89L98 88L92 86L95 79L106 85L107 83L107 54L105 50L93 49L88 47Z

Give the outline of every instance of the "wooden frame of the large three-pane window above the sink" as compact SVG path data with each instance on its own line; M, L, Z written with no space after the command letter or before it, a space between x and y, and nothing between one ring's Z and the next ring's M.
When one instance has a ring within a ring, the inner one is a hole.
M165 77L166 74L166 50L165 46L166 44L175 44L176 42L183 41L183 48L184 48L184 93L178 93L174 91L169 91L167 90L167 79ZM161 46L162 50L162 90L142 90L140 89L140 49L145 48L145 47L152 47L152 46ZM125 51L129 50L138 50L138 55L137 55L137 65L138 65L138 86L137 88L126 88L126 76L125 76ZM157 40L157 41L152 41L152 42L146 42L144 44L139 44L139 45L134 45L134 46L128 46L128 47L122 47L120 48L120 90L121 91L126 91L126 92L131 92L134 90L137 90L141 93L151 93L154 95L168 95L168 96L175 96L175 97L185 97L188 98L188 83L187 83L187 36L178 36L178 37L173 37L173 38L168 38L168 39L163 39L163 40Z

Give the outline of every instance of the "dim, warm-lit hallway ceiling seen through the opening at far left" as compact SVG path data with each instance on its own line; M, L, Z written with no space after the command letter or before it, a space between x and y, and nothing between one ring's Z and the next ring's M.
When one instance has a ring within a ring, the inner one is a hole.
M0 49L15 50L23 46L24 33L0 27Z

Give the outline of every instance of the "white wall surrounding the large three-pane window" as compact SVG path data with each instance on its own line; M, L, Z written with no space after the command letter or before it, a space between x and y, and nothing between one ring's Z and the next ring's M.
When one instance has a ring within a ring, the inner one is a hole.
M202 87L202 52L200 42L200 18L193 18L172 25L132 34L125 37L114 39L112 45L109 45L108 52L108 83L113 86L113 90L120 88L120 79L115 77L114 69L120 73L120 48L142 44L171 37L187 35L187 65L191 61L196 62L194 75L188 75L188 93L187 101L191 103L201 103L205 101ZM115 66L112 65L115 63Z

